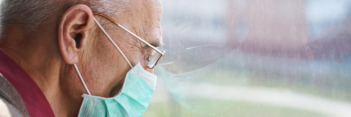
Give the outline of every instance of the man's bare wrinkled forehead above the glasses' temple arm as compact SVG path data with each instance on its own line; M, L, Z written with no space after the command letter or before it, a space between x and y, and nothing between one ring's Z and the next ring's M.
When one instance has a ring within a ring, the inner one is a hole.
M129 23L132 32L136 32L140 38L147 40L150 44L155 43L155 46L159 46L160 44L157 43L162 41L161 1L132 0L129 8L130 12L126 13L125 17L128 18L125 21Z

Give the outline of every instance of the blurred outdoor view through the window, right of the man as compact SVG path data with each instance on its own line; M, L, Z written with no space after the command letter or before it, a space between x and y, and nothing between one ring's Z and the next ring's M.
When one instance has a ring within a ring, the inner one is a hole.
M162 0L143 117L351 117L351 0Z

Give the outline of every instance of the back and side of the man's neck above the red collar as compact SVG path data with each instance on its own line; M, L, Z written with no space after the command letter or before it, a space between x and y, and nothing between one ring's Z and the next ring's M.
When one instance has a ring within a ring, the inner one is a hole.
M62 62L57 42L45 34L25 35L23 28L11 26L3 28L0 48L34 79L48 99L55 116L67 117L79 111L80 102L67 95L60 84ZM41 32L41 31L37 31ZM47 33L47 32L46 32ZM48 35L48 34L47 34ZM38 38L41 37L41 38ZM77 105L77 106L72 106Z

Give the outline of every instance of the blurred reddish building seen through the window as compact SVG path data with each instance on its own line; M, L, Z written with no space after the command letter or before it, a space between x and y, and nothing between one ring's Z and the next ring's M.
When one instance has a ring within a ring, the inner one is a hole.
M246 53L314 59L307 41L305 0L227 0L228 44Z

